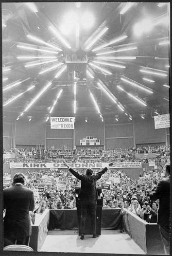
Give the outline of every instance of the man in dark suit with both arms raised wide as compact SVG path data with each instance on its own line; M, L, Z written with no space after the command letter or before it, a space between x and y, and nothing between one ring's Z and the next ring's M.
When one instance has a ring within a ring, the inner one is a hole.
M69 168L69 165L65 161L64 165ZM110 163L108 167L112 165L113 163ZM91 216L93 238L98 237L96 233L96 204L98 198L96 182L107 171L108 167L103 168L97 174L93 174L93 170L88 168L86 169L86 175L81 175L72 168L69 168L69 171L81 181L81 191L79 194L79 198L81 199L81 239L84 239L85 235L87 211Z

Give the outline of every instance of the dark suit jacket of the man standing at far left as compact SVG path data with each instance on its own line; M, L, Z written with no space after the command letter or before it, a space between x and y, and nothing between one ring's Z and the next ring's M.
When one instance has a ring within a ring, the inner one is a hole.
M17 183L3 190L4 235L21 238L32 234L29 211L34 210L34 193Z

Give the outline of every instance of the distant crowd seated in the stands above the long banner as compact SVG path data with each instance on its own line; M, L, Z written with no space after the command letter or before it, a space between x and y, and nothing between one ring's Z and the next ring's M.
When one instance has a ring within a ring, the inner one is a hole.
M149 156L136 157L136 154L155 153L154 158ZM82 147L72 148L46 148L40 146L26 148L3 149L3 163L10 162L62 162L63 159L70 159L71 162L145 162L158 161L167 162L170 157L170 146L137 146L123 148L106 148L103 147ZM8 158L5 155L8 154ZM9 158L9 154L13 158Z

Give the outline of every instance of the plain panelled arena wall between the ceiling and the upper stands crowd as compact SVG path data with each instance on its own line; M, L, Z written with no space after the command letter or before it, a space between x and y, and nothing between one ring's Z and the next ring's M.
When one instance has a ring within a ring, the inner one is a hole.
M124 124L76 120L74 130L51 129L49 124L38 121L3 123L3 148L7 149L35 145L73 148L80 146L80 140L86 136L100 139L100 144L106 148L155 143L170 145L170 129L155 129L153 118Z

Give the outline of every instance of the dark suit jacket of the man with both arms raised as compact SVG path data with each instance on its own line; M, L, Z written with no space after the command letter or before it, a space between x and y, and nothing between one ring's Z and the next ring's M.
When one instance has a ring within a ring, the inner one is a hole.
M79 194L79 198L81 200L89 199L90 201L95 201L98 198L96 182L107 171L107 167L103 168L102 171L100 171L96 174L93 174L93 175L79 174L78 172L74 171L72 168L69 168L69 171L77 179L81 180L81 191Z

